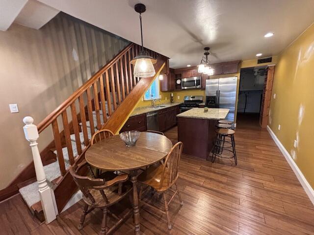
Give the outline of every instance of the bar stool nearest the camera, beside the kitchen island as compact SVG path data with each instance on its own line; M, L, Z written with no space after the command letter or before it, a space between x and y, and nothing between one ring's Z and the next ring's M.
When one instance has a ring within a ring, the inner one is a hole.
M235 165L237 164L237 160L236 160L236 153L235 153L235 131L232 129L217 129L216 130L216 139L215 139L215 143L214 143L214 147L213 147L213 151L212 151L212 158L211 158L211 162L215 162L216 157L220 157L220 158L234 158L235 159ZM231 139L231 149L228 149L226 147L224 147L224 143L227 142L226 141L226 137L230 137ZM232 157L223 157L222 153L223 150L226 151L230 151L233 153Z

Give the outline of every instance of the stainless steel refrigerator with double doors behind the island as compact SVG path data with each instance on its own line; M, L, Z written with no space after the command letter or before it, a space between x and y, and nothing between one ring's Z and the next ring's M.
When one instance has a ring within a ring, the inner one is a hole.
M235 120L237 77L217 78L206 80L206 106L209 108L229 109L226 117Z

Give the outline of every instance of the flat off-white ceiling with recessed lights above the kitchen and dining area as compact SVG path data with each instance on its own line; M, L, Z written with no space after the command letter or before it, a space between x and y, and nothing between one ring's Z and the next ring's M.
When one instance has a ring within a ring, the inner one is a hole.
M171 68L277 55L314 21L314 0L39 0L52 8L170 57ZM274 32L271 38L264 38Z

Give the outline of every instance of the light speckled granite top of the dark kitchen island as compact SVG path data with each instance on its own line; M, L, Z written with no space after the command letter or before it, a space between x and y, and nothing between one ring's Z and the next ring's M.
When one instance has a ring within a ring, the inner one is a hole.
M199 119L224 119L227 117L229 109L208 109L208 112L204 112L204 108L193 108L178 114L179 118L199 118Z

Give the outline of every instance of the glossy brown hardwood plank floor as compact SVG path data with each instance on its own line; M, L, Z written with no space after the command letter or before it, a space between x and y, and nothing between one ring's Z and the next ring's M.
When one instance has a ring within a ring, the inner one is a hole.
M176 127L165 134L177 141ZM178 198L170 204L173 229L168 231L164 215L143 206L143 234L314 235L314 206L268 132L258 121L242 117L235 142L237 166L232 160L216 159L212 164L183 155L178 186L184 205L180 208ZM162 208L162 200L149 195ZM112 210L123 213L122 204ZM97 210L86 216L83 230L77 230L81 205L77 203L49 225L39 224L17 195L0 204L0 234L98 234L102 213ZM132 235L132 218L114 234Z

